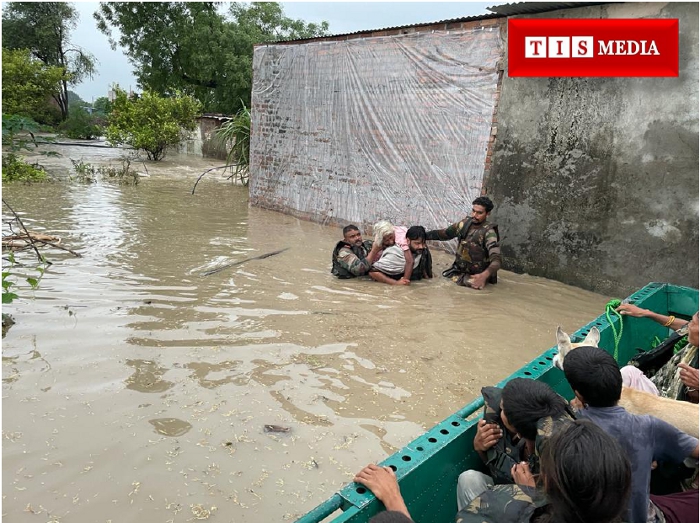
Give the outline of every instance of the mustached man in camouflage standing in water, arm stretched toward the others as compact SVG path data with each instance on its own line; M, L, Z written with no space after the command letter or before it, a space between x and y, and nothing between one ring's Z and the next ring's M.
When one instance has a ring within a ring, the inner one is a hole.
M496 283L501 268L501 247L498 225L489 223L493 202L479 196L472 202L470 217L453 223L447 229L428 231L428 240L448 241L459 239L457 254L452 266L442 275L457 285L483 289L486 283Z

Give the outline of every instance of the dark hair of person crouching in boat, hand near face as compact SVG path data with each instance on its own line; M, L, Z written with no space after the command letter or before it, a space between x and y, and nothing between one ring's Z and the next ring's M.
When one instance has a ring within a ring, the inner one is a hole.
M506 383L501 399L508 423L530 441L537 437L540 418L556 418L568 410L566 400L549 385L527 378L515 378Z

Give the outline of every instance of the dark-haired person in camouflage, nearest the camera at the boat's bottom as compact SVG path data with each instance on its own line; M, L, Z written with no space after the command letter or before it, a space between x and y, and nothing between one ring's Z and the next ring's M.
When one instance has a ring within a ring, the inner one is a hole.
M631 466L618 442L587 420L538 423L540 478L496 485L457 513L457 523L617 523Z

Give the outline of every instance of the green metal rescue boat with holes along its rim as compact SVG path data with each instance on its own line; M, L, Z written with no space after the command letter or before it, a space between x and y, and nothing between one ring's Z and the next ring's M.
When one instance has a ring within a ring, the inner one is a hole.
M698 311L698 289L669 283L649 283L624 301L689 320ZM555 327L553 324L552 333ZM655 338L663 340L669 334L668 328L654 321L621 317L608 312L577 330L571 336L572 341L582 341L593 327L600 331L600 347L613 354L617 346L620 365L625 365L640 349L650 349ZM573 392L564 373L552 365L556 354L556 346L550 348L497 386L503 387L513 378L531 378L547 383L559 394L571 399ZM396 472L401 493L414 521L454 522L459 474L467 469L485 471L473 447L476 424L482 417L483 406L482 397L475 399L381 462L382 466L389 466ZM366 523L382 510L384 506L369 490L358 483L350 483L298 519L297 523Z

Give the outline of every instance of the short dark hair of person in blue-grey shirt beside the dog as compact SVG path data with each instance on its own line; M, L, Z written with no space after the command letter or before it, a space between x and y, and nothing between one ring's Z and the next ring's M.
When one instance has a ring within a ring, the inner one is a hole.
M591 407L612 407L620 401L622 374L615 358L597 347L578 347L564 358L571 388Z

